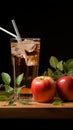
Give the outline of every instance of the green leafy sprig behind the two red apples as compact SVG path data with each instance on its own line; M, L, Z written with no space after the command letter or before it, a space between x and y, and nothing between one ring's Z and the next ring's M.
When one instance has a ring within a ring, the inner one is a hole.
M58 60L57 57L51 56L49 59L50 67L46 71L46 75L57 80L63 75L73 75L73 58L67 61Z

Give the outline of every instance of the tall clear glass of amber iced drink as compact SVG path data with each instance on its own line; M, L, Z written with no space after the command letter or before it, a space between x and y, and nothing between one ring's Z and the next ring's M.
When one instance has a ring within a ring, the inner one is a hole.
M32 99L31 82L39 72L40 38L22 38L21 43L18 43L15 38L11 38L10 45L13 87L18 87L16 78L23 73L24 78L21 82L23 88L19 97Z

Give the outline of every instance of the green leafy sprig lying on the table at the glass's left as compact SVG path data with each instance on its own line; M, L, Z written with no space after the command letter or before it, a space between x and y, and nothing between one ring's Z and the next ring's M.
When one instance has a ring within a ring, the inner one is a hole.
M14 99L13 94L14 94L14 92L16 92L17 95L19 94L21 88L23 87L23 86L21 86L23 77L24 77L24 73L17 76L15 82L18 87L13 88L11 86L11 76L6 72L1 73L1 78L2 78L3 84L0 84L0 88L3 87L4 91L0 92L0 101L9 100L8 105L15 105L14 104L15 99Z

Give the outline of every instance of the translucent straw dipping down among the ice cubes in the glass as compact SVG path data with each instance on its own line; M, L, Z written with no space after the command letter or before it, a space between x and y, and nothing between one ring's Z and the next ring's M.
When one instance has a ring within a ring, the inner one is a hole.
M17 25L16 25L16 23L15 23L15 20L13 19L13 20L11 20L11 21L12 21L13 27L14 27L15 32L16 32L16 35L17 35L17 41L18 41L18 43L19 43L19 47L20 47L21 52L22 52L22 54L23 54L23 57L25 58L25 61L26 61L26 63L27 63L27 55L26 55L26 52L25 52L25 50L23 50L23 48L22 48L22 46L21 46L22 38L21 38L20 33L19 33L19 31L18 31L18 28L17 28Z

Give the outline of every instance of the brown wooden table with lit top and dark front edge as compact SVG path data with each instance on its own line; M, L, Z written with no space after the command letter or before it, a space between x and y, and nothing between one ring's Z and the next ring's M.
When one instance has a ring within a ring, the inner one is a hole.
M16 106L8 106L7 102L0 102L0 119L72 119L73 102L53 105L52 103L29 102L21 104L16 101Z

